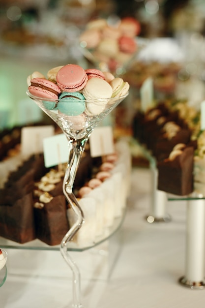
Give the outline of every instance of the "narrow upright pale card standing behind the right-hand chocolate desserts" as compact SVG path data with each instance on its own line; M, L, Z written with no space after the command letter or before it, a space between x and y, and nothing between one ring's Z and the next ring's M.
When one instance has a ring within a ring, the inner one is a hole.
M153 79L148 77L140 88L141 109L146 112L147 108L153 105Z

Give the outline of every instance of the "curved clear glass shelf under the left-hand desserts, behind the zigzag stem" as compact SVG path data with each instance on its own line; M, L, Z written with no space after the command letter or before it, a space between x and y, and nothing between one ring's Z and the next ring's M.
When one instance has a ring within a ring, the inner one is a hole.
M126 214L126 209L123 209L122 215L120 217L116 217L114 219L112 226L105 228L104 233L101 236L96 237L96 241L93 244L82 247L82 246L78 246L77 243L75 243L74 241L70 241L67 245L67 249L69 251L84 251L84 250L88 250L108 240L115 232L117 232L117 230L122 225L125 214ZM60 246L59 245L49 246L38 239L35 239L29 243L19 244L19 243L16 243L16 242L0 237L0 247L1 248L14 248L14 249L58 250L59 251Z

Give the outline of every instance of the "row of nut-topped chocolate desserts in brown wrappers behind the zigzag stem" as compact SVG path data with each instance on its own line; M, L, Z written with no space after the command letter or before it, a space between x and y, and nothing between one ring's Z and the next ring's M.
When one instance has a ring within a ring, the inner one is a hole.
M83 155L74 184L78 190L91 177L93 160L86 150ZM66 166L62 170L52 168L46 172L33 189L34 223L36 238L54 246L59 245L65 233L69 230L67 217L68 204L63 195L62 184Z

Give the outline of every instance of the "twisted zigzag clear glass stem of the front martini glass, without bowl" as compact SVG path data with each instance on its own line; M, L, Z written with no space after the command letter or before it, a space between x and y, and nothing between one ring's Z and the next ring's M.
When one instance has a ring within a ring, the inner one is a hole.
M81 156L85 150L88 137L76 140L67 136L68 146L69 146L69 156L68 164L65 171L65 176L63 180L63 193L68 203L70 204L72 210L75 212L77 220L75 224L69 229L69 231L63 237L60 244L60 252L70 266L73 272L73 308L82 308L81 304L81 287L80 287L80 271L76 263L72 260L70 255L67 252L66 244L74 237L77 231L81 228L84 223L84 214L78 204L78 201L73 194L73 183L75 180L76 172L80 163Z

